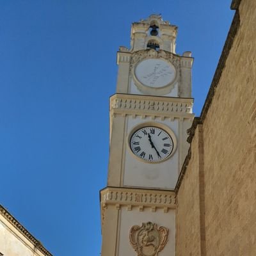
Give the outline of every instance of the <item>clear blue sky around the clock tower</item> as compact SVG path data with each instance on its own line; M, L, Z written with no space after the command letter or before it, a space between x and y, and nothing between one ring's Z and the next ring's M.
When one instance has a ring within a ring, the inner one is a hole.
M0 204L54 255L99 255L116 51L131 23L161 13L192 51L200 115L231 1L0 2Z

